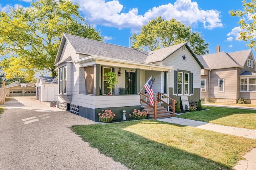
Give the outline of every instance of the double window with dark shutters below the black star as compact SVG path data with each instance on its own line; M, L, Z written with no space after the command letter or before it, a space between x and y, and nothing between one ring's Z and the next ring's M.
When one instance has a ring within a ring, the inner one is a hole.
M188 71L174 71L174 94L193 94L193 73Z

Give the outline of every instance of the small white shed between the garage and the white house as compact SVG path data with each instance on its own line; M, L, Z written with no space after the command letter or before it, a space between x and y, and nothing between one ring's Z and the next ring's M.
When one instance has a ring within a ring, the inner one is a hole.
M58 81L54 77L39 76L36 82L36 100L50 102L57 99Z

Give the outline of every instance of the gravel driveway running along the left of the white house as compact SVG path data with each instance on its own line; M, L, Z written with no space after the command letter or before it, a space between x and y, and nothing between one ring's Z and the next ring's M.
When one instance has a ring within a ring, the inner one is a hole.
M128 170L69 127L95 122L34 97L13 97L0 117L0 170Z

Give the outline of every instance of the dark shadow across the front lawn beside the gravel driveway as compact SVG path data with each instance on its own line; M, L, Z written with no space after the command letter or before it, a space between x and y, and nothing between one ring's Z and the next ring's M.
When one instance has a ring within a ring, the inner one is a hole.
M142 124L151 124L153 126L170 125L170 123L165 122L142 120L96 125L75 125L72 130L80 135L84 141L89 142L91 147L97 148L100 153L112 157L115 161L124 164L128 168L136 170L231 169L228 165L127 131L129 127L132 128ZM171 125L172 127L186 127L183 125ZM148 131L148 129L145 130ZM152 129L152 131L154 130ZM170 142L172 142L172 139L170 139Z

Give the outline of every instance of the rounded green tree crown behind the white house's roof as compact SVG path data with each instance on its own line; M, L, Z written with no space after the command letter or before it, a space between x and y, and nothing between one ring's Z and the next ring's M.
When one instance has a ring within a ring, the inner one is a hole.
M209 53L208 45L200 33L191 31L191 27L171 19L165 21L162 17L152 19L143 25L140 34L133 33L132 48L146 51L169 47L187 42L197 55Z

